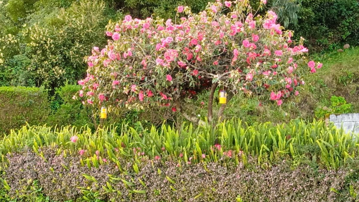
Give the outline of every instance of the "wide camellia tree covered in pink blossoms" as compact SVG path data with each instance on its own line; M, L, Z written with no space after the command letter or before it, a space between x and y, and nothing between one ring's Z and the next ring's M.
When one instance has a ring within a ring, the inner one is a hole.
M265 3L258 2L258 9ZM93 48L79 96L86 105L110 111L164 106L193 122L199 120L184 113L186 102L209 91L212 120L216 89L227 92L227 102L245 93L281 105L298 95L300 75L322 64L307 63L304 39L292 41L293 32L276 20L272 11L256 15L248 0L209 3L199 14L178 6L177 17L168 20L127 15L110 22L104 49ZM224 109L225 104L219 117Z

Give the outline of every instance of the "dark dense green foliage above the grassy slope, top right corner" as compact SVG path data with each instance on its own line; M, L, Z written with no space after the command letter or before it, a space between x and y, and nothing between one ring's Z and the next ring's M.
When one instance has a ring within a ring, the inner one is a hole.
M302 0L298 23L290 25L297 36L317 49L338 48L332 44L359 44L359 2L357 0Z

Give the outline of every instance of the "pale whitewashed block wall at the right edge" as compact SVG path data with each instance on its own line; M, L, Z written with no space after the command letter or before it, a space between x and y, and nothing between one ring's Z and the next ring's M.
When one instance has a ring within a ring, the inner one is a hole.
M359 113L358 114L331 114L329 120L337 128L343 127L346 132L359 134Z

